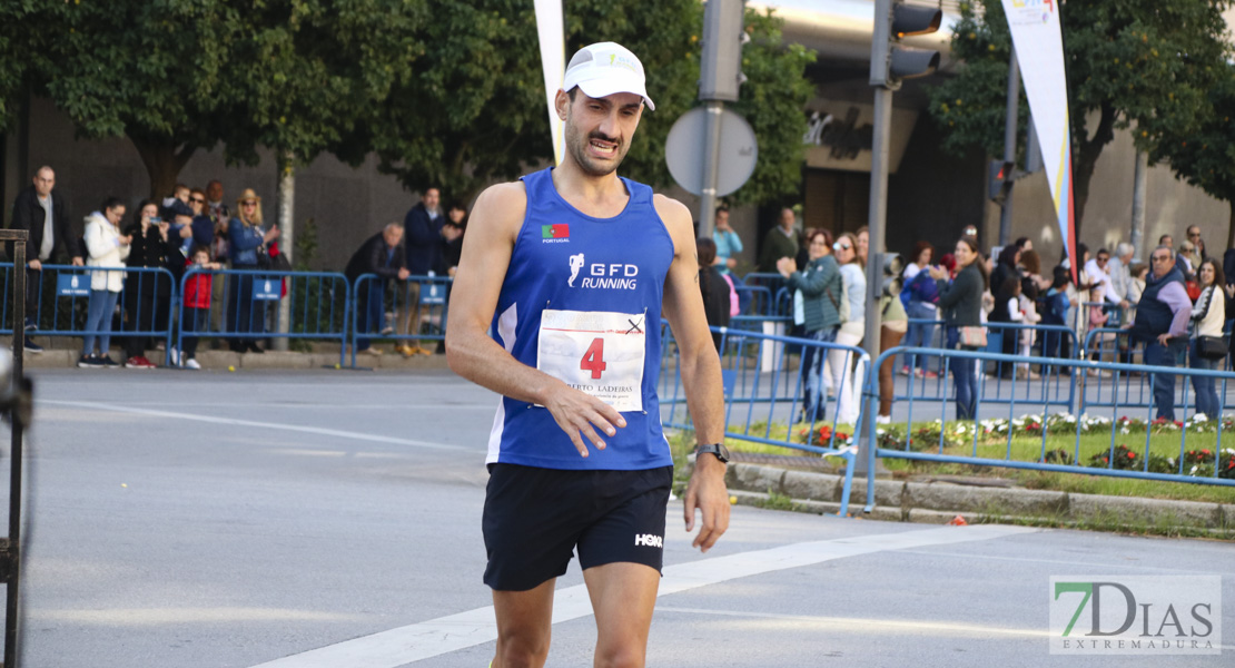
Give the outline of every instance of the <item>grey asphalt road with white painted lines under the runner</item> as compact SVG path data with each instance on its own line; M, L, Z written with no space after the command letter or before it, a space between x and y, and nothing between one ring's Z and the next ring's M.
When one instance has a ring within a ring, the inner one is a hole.
M446 372L36 383L22 666L488 664L492 393ZM679 514L650 666L1229 666L1235 652L1225 542L739 506L699 554ZM1225 656L1049 653L1052 575L1203 574L1223 577ZM558 583L550 666L592 663L580 583L577 564Z

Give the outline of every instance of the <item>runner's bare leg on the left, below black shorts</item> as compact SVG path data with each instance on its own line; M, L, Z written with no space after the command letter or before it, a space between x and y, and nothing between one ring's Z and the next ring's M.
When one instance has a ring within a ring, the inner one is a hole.
M493 668L541 668L548 658L553 627L553 583L527 591L493 591L498 617L498 654Z

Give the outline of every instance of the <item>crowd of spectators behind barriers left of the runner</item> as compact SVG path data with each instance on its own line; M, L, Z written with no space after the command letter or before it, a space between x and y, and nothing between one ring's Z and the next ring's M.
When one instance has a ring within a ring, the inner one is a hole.
M83 336L77 362L80 368L154 368L147 352L162 348L164 338L151 335L165 330L175 310L175 285L182 279L183 315L173 319L179 320L173 326L180 330L184 349L167 351L173 365L200 369L198 343L211 332L216 346L226 343L238 353L264 352L262 342L268 327L274 326L277 309L270 300L254 299L254 283L266 280L263 270L288 270L290 264L279 248L280 230L263 219L262 198L253 189L242 190L231 202L219 180L204 189L177 184L165 198L142 200L131 210L121 199L109 196L84 217L84 235L79 237L56 190L54 170L41 167L32 182L15 199L9 225L28 232L30 315L22 335L27 353L43 351L35 338L42 273L44 264L57 263L90 268L84 319L74 330ZM432 354L409 338L421 331L427 317L420 307L420 284L406 279L452 277L461 254L467 209L456 204L443 214L438 201L438 189L426 189L404 222L391 222L369 238L346 269L352 280L377 275L359 294L358 327L366 333L391 335L401 320L400 333L405 336L400 341L408 344L400 342L396 351L404 356ZM12 243L6 252L14 257ZM221 269L236 273L215 280L214 273ZM391 283L396 290L388 290ZM287 285L277 283L277 288L282 291L274 296L285 298ZM119 362L112 357L114 333L120 340ZM372 337L358 337L357 352L380 354Z

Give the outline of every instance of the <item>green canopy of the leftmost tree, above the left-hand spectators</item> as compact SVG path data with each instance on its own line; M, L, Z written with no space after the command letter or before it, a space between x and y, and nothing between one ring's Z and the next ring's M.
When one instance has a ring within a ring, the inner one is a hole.
M410 75L426 20L401 0L116 0L47 2L26 26L46 47L33 90L82 137L128 137L152 194L167 194L220 142L230 162L254 163L259 146L357 159L346 138Z

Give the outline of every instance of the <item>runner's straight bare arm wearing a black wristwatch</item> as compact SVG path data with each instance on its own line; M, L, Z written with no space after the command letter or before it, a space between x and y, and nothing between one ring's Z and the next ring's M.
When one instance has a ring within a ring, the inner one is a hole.
M673 237L673 263L664 280L664 317L678 343L682 386L687 389L687 409L700 445L725 440L725 394L720 379L720 357L711 342L711 331L699 293L699 258L695 253L690 212L680 202L657 196L656 210ZM725 489L725 464L711 456L695 461L687 485L687 531L694 528L698 509L703 516L694 547L711 548L729 528L729 491Z

